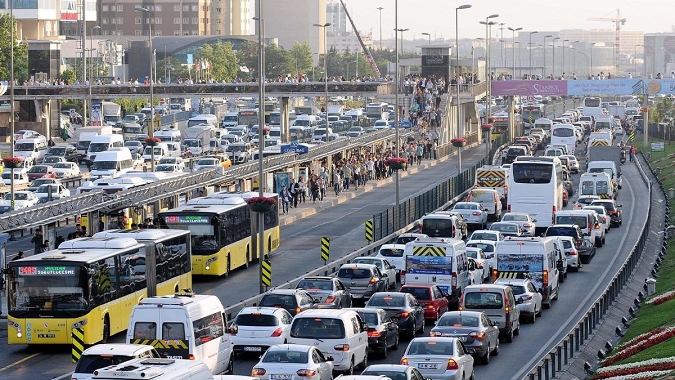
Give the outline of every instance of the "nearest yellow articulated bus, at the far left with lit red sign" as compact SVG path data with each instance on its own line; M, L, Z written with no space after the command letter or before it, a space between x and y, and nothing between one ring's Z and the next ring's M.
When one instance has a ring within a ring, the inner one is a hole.
M106 342L126 330L148 277L157 295L192 288L189 231L137 237L69 240L9 263L8 343L71 344L74 328L83 329L85 345Z

